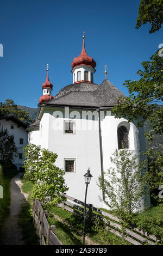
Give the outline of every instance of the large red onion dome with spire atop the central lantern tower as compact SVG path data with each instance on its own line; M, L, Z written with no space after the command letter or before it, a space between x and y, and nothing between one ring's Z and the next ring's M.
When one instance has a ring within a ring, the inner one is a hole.
M84 36L83 36L82 52L80 53L80 55L78 57L73 59L73 62L71 64L72 68L74 68L74 66L79 66L79 65L92 66L93 68L95 68L95 66L96 66L95 60L93 60L92 57L87 56L87 54L86 54L85 44L84 44Z

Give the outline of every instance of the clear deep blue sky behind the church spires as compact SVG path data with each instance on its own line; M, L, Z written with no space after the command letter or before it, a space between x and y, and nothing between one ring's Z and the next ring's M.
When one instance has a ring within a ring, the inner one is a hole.
M136 71L163 43L162 29L149 34L151 25L135 29L140 0L68 1L5 0L0 8L0 101L37 107L46 80L52 95L72 83L71 63L85 48L97 66L94 82L108 80L124 94L125 80L138 80Z

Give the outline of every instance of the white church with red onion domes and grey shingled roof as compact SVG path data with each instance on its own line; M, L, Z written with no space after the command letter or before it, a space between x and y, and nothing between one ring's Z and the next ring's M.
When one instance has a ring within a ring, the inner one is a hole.
M146 150L143 127L137 128L127 119L116 119L112 107L118 97L125 97L107 79L94 81L96 62L87 56L83 36L80 55L73 59L73 83L53 97L53 85L47 78L42 84L37 118L28 127L28 143L41 145L58 154L56 166L65 170L67 194L84 201L84 174L90 168L92 179L88 187L87 203L106 208L99 200L102 191L98 176L111 167L110 156L115 149L124 148L139 154Z

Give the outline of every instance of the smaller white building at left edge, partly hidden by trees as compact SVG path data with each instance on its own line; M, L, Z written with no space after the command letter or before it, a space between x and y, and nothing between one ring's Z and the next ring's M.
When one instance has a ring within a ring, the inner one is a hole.
M2 127L3 129L7 129L11 135L14 135L18 156L14 159L13 163L16 165L17 169L20 169L23 166L22 163L24 161L23 148L26 147L28 143L27 125L16 117L10 116L0 118L0 128Z

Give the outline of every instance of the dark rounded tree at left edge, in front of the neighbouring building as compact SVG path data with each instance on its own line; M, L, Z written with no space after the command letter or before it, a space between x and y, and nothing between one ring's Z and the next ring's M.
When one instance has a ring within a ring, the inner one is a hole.
M0 129L0 161L4 166L9 166L18 151L14 141L14 135L10 135L7 129Z

